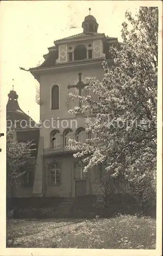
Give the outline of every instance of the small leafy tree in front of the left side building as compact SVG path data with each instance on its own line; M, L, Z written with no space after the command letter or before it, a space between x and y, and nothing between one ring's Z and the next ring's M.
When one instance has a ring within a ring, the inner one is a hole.
M7 176L10 184L13 186L18 185L19 178L28 170L33 168L32 148L35 144L32 141L17 142L14 139L14 131L7 131Z

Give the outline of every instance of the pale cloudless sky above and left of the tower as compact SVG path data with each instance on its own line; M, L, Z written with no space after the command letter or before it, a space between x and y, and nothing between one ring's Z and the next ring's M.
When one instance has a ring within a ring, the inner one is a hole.
M39 121L35 102L39 83L30 72L22 71L42 63L43 54L53 41L82 33L82 22L89 14L99 24L98 32L121 41L125 11L139 9L133 1L1 1L1 97L7 103L8 93L18 94L20 108ZM73 26L73 28L71 28ZM13 80L14 79L14 80Z

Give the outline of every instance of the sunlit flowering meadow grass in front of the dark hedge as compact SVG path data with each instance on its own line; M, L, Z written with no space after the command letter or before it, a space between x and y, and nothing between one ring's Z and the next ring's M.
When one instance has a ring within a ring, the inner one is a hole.
M156 220L111 219L8 220L7 247L155 249Z

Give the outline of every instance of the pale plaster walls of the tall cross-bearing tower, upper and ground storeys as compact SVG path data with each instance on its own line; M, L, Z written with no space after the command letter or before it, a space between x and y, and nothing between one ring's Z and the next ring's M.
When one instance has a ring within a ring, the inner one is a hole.
M101 61L102 62L102 61ZM43 122L45 120L57 120L55 122L56 129L60 131L61 144L64 144L63 133L68 127L73 131L73 139L75 139L76 130L79 127L85 127L84 117L78 115L71 115L68 113L68 109L73 109L75 105L78 106L78 100L76 102L69 102L67 105L68 94L78 94L77 89L69 89L67 86L69 84L73 85L78 82L78 73L82 73L82 80L85 82L85 77L96 77L98 80L103 78L103 68L102 63L97 63L94 65L86 66L85 63L81 67L74 66L74 68L64 68L58 69L53 72L42 73L40 77L40 100L42 104L40 105L40 120ZM58 84L60 87L60 109L51 110L51 93L50 89L53 84ZM67 123L61 124L62 120L68 121ZM71 120L75 120L72 121ZM42 125L40 129L40 137L44 138L44 148L51 146L50 133L55 130L55 127L51 127L51 123L46 122L46 126ZM88 135L87 135L88 138ZM52 163L53 160L60 163L61 165L61 184L60 185L50 185L49 184L49 169L48 163ZM76 158L72 156L72 153L67 154L53 154L51 157L43 158L43 176L44 182L42 184L42 191L44 191L45 197L75 197L75 179L74 179L74 163L77 161ZM92 169L88 173L87 179L87 190L86 195L95 194L95 179L98 175L98 167Z

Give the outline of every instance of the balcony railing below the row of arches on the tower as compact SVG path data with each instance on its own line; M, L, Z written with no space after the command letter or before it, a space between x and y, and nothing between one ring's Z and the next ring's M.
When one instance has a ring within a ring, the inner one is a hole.
M84 143L90 144L90 142L84 142ZM91 145L95 146L95 145L97 145L97 143L93 142L93 143L91 143ZM64 145L64 144L44 148L44 156L59 154L59 153L68 153L68 152L74 152L74 151L71 150L69 147L67 147L67 145Z

